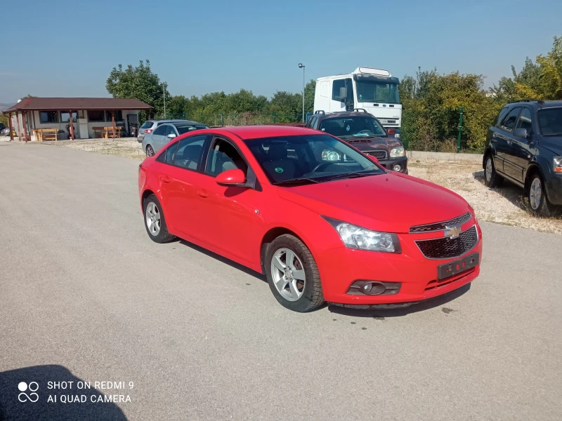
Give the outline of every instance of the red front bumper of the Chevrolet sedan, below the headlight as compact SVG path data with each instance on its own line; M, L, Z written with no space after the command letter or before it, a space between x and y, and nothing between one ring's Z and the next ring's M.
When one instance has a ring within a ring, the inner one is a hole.
M320 269L322 291L327 302L344 305L389 305L410 303L449 293L476 279L482 261L482 232L473 218L463 225L463 230L476 225L478 242L471 250L459 257L445 260L426 258L415 243L420 239L436 239L443 232L424 234L398 234L402 253L377 253L353 250L341 246L324 250L315 259ZM476 267L438 280L439 265L453 262L472 253L478 253ZM357 280L401 283L398 293L393 295L354 295L350 286Z

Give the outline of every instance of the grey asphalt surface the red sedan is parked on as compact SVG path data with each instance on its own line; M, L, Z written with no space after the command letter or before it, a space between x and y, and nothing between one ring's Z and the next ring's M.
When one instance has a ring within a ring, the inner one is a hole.
M261 276L150 241L137 167L0 145L0 419L562 418L562 236L482 223L470 288L406 310L296 314ZM21 381L37 382L37 403L18 402ZM99 392L131 401L90 403Z

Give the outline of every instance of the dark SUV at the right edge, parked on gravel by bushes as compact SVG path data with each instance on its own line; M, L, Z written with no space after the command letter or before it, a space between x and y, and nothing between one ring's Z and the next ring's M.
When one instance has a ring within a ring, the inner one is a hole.
M523 187L532 213L554 215L562 205L562 101L506 105L488 130L483 168L488 187L509 180Z

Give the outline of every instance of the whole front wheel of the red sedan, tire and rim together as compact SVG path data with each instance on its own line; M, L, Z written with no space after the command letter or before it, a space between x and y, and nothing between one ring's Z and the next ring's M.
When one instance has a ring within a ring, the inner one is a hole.
M269 288L283 307L310 312L324 302L320 274L308 247L284 234L270 243L265 256Z

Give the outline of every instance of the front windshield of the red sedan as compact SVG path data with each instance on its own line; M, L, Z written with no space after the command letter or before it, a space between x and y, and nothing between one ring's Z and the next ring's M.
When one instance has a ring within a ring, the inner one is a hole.
M273 184L307 184L384 173L345 142L328 135L283 136L245 142Z

